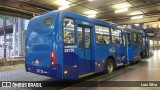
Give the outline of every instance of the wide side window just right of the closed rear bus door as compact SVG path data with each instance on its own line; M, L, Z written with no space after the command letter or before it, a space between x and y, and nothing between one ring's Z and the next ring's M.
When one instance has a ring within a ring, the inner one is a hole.
M95 32L96 32L96 43L97 44L109 44L110 43L109 28L96 25Z

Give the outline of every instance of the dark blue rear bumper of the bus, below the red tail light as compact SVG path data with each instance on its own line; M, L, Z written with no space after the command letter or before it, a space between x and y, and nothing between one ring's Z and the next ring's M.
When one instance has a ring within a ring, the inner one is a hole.
M62 75L57 73L57 68L48 68L48 67L41 67L35 65L25 64L25 69L27 72L32 72L35 74L51 77L53 79L62 79Z

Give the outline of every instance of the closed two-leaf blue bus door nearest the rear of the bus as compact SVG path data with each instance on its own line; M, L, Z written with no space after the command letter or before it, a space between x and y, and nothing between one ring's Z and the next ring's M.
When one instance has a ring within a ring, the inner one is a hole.
M91 27L78 25L79 75L91 72Z

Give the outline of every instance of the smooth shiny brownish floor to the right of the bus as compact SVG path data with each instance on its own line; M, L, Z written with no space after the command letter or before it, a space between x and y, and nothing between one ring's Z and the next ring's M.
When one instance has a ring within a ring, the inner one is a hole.
M122 68L110 75L100 75L88 81L117 81L115 82L116 84L118 81L129 81L128 83L132 83L132 81L159 81L157 84L160 86L160 50L154 50L151 52L153 52L152 57L144 59L138 64ZM135 82L135 84L137 83ZM105 82L103 82L103 86L105 86L104 84ZM64 88L63 90L160 90L160 87L101 87L101 85L99 85L100 87L83 87L83 83L79 85L82 87L72 86Z

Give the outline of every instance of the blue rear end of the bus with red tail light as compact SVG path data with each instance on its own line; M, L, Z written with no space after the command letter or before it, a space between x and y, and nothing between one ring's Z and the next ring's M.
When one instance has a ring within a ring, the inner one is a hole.
M53 40L56 16L57 13L52 12L30 21L25 40L25 67L28 72L58 79L61 70L58 70Z

